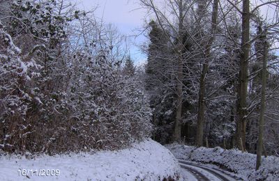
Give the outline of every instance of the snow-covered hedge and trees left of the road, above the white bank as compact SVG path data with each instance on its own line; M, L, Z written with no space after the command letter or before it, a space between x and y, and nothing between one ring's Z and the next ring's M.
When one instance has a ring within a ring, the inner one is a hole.
M0 7L1 150L117 149L150 135L144 86L113 26L67 1Z

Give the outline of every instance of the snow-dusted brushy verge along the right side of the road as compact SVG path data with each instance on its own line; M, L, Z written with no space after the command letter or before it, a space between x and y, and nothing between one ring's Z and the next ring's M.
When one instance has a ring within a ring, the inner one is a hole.
M186 159L203 164L214 164L236 173L243 180L278 180L279 158L262 157L262 166L255 171L256 155L239 150L223 148L196 148L187 145L172 144L166 146L178 159Z

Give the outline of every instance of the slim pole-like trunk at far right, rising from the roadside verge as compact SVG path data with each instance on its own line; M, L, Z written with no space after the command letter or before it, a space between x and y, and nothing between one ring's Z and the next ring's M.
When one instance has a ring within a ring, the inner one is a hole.
M266 32L264 32L266 33ZM262 65L262 95L261 95L261 111L259 114L259 135L257 139L257 163L256 163L256 171L261 166L262 160L262 148L263 148L263 133L264 133L264 110L266 104L266 64L267 64L267 42L266 37L264 36L264 54L263 54L263 65Z

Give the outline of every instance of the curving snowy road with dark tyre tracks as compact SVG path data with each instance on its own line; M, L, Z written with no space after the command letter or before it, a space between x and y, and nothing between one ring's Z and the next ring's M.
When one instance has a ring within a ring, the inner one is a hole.
M193 162L186 162L185 160L179 159L179 164L181 166L181 171L183 178L185 180L192 180L190 177L194 177L195 180L238 180L234 175L231 175L225 171L222 171L217 168L210 168L208 166L200 166L199 164L195 164ZM189 176L189 174L191 176Z

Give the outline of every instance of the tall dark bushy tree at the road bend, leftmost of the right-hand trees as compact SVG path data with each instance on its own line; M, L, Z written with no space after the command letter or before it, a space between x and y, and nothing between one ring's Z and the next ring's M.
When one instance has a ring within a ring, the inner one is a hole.
M171 51L167 38L155 21L149 23L148 58L145 68L145 86L153 109L153 125L156 125L154 138L160 143L172 140L174 118L174 79L172 76L172 61L169 61Z

